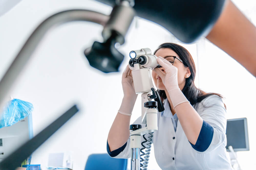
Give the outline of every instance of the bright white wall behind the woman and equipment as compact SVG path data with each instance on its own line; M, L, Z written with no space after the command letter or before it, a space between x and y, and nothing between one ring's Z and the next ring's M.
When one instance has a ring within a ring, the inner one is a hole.
M4 74L31 32L50 15L66 9L90 9L109 14L111 8L95 1L32 1L23 0L0 17L0 76ZM137 27L135 22L137 20ZM125 59L119 73L103 74L89 66L83 50L93 41L101 41L102 27L93 23L73 22L51 30L34 52L25 71L11 92L14 98L34 105L34 135L77 103L80 112L38 148L32 157L33 164L47 166L48 154L71 151L74 169L83 169L91 153L106 152L106 139L114 117L120 107L123 91L121 74L129 61L129 52L140 48L154 51L164 42L179 43L162 27L143 19L134 20L120 47ZM196 85L208 92L223 94L228 118L247 117L249 152L241 152L245 167L255 154L255 126L253 98L255 78L237 62L208 41L182 44L193 56L198 75ZM205 48L203 48L205 47ZM204 54L197 60L197 53ZM218 62L217 62L218 61ZM198 64L197 64L198 62ZM229 64L227 64L229 63ZM214 81L215 80L215 81ZM140 98L135 104L131 123L140 116ZM152 150L149 169L159 169Z

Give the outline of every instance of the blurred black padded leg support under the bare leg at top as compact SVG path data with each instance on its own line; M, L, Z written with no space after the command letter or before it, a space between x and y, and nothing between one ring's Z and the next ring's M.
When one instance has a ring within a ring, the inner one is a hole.
M97 0L114 6L118 0ZM225 0L134 0L136 16L153 21L184 43L206 36L219 18Z

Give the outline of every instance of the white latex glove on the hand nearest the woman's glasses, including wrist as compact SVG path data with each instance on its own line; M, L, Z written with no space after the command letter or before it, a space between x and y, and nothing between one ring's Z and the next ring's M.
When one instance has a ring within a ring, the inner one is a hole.
M160 56L157 58L157 62L165 69L166 73L162 72L159 68L155 68L154 71L162 79L170 99L172 100L173 107L175 108L181 103L189 102L179 89L177 67L173 66L169 61Z

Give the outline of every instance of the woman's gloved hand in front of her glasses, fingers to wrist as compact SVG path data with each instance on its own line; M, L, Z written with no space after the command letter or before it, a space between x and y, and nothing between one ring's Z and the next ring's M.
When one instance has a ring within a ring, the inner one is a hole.
M162 79L167 91L169 92L173 89L179 88L177 67L173 66L169 61L160 56L157 58L157 62L164 68L165 73L159 68L155 68L154 71Z

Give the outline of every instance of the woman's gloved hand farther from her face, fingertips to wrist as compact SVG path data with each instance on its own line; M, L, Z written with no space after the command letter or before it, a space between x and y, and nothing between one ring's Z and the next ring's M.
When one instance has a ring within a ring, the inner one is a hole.
M122 86L123 86L124 97L137 98L137 94L135 93L134 83L132 78L132 70L129 68L129 64L125 68L122 75Z

